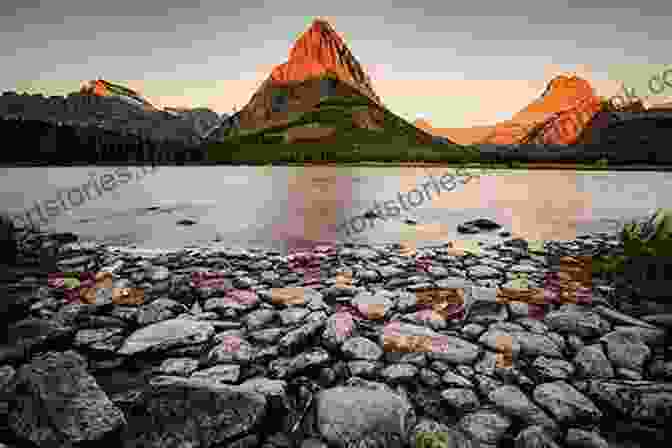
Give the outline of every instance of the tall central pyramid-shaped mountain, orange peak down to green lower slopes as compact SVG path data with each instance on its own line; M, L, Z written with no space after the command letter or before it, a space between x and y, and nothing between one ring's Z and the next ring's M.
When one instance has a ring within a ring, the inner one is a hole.
M452 143L385 109L362 66L321 19L299 37L288 61L274 67L236 114L235 125L225 122L209 140L226 140L235 131L258 134L270 129L286 143L354 142L356 134L367 141L396 134L408 143Z

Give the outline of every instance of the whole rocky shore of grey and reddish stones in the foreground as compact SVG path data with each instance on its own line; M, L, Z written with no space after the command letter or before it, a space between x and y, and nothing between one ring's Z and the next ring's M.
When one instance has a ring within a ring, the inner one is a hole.
M4 446L668 439L672 305L586 275L591 255L619 250L615 235L534 251L510 239L478 255L34 245L57 269L2 285Z

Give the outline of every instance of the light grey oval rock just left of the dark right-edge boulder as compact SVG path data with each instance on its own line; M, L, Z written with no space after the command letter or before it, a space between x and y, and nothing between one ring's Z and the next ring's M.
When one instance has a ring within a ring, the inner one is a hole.
M564 381L540 384L534 389L534 400L560 423L598 421L602 412L587 397Z

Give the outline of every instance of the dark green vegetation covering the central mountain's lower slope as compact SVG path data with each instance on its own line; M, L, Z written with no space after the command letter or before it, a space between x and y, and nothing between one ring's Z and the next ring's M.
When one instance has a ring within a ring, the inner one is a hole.
M416 142L417 129L382 109L380 129L357 128L353 113L378 107L363 96L327 97L302 114L290 114L289 122L263 129L229 130L225 140L208 146L208 160L233 164L302 162L436 162L477 161L477 148ZM288 144L287 132L294 127L331 127L337 143Z

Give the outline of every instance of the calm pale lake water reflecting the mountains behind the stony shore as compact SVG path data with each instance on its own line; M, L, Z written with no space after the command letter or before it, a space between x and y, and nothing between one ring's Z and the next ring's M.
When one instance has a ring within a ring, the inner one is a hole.
M59 190L92 179L100 183L105 174L108 182L110 177L126 181L120 170L134 178L109 191L96 187L101 194L90 187L88 200L71 195L73 203L84 202L61 208L46 228L151 249L219 239L225 247L285 251L337 241L423 246L498 239L497 232L457 233L458 224L479 217L497 221L514 236L567 240L614 231L656 207L672 207L670 172L489 171L452 192L432 190L432 200L402 212L417 225L377 220L348 238L336 226L362 214L374 200L396 201L399 192L420 187L429 174L438 179L454 168L163 166L144 176L140 167L3 168L0 209L25 212L35 201L57 200ZM177 225L182 219L196 224Z

